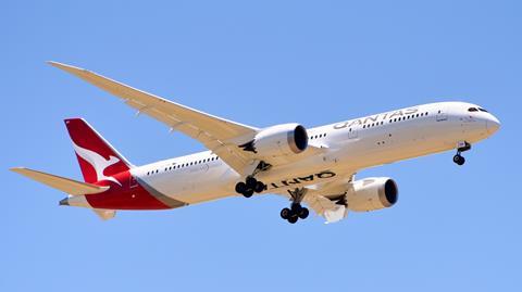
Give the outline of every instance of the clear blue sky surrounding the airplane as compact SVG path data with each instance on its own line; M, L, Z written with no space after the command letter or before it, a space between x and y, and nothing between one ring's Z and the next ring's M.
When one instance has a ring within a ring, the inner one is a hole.
M521 291L520 1L135 2L2 4L1 291ZM399 203L335 225L290 226L275 195L103 223L7 169L80 178L71 116L138 165L203 148L47 60L260 127L463 100L502 128L464 167L361 172Z

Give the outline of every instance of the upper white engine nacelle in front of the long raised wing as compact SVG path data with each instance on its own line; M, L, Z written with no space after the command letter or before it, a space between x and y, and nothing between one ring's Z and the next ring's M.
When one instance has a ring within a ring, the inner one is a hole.
M263 129L252 141L240 145L263 157L299 154L308 148L307 129L299 124L284 124Z

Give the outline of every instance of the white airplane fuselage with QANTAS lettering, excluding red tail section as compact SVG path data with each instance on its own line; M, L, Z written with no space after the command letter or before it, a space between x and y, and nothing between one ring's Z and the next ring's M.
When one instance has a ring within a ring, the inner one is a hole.
M282 193L346 178L382 164L456 149L474 143L498 128L498 119L477 105L463 102L431 103L381 113L308 130L310 144L323 151L260 173L265 193ZM481 109L482 110L482 109ZM237 195L243 180L210 151L161 161L132 169L161 193L188 204Z

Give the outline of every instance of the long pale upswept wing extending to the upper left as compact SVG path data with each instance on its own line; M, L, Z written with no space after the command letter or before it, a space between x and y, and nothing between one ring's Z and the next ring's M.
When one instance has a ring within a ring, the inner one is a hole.
M112 93L127 105L203 143L239 174L245 174L254 156L237 145L248 142L259 129L216 117L166 99L132 88L87 69L49 62L85 81Z

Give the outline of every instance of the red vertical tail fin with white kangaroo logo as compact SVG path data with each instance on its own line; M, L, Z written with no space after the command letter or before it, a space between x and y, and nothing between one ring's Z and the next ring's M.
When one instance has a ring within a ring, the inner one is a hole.
M114 175L130 169L132 165L87 122L82 118L65 119L69 135L86 182L113 181Z

